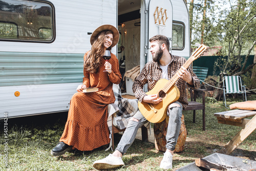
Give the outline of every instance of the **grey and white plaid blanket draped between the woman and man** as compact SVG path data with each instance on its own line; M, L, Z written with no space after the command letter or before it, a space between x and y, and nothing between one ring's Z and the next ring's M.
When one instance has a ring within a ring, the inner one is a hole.
M108 105L108 126L110 130L110 139L112 138L112 116L113 116L113 125L118 129L125 129L130 118L136 114L138 109L138 99L126 99L121 96L121 89L118 84L113 84L113 91L116 97L114 103ZM150 122L144 124L147 129L150 129ZM112 146L112 139L109 150Z

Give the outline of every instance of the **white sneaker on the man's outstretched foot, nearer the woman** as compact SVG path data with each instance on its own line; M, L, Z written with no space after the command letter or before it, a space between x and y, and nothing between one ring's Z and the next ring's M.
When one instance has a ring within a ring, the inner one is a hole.
M98 170L112 169L123 165L124 163L122 161L122 158L115 157L112 154L110 154L108 157L105 157L104 159L97 160L93 163L93 167Z

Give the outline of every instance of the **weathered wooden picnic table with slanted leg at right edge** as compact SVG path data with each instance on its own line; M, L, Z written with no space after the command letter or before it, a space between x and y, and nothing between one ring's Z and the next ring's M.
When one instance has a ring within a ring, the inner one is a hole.
M224 146L224 153L227 155L256 129L256 111L232 110L215 113L214 116L217 117L218 123L242 127L242 130ZM251 116L252 119L245 119Z

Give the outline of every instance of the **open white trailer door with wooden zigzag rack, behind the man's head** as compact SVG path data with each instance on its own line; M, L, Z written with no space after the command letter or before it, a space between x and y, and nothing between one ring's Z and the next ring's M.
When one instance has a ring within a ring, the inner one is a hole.
M148 40L154 35L161 34L169 38L172 50L173 5L169 0L151 0L148 5ZM147 41L148 41L147 40ZM152 60L150 42L148 42L147 61Z

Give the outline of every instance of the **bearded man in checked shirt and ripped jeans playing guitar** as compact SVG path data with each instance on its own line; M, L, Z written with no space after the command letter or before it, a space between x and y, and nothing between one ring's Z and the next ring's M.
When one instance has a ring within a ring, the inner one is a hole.
M170 79L182 67L186 59L180 56L175 56L169 53L169 40L166 36L156 35L150 39L150 52L153 61L146 63L139 76L133 84L133 92L139 101L157 104L162 101L158 95L146 95L143 92L144 84L148 84L148 91L152 90L156 82L161 79ZM199 88L200 81L190 68L182 70L178 73L179 79L176 81L176 86L179 89L180 97L178 101L171 103L168 106L167 115L169 122L166 134L166 152L160 164L160 168L169 169L173 167L173 155L175 145L178 140L182 108L185 109L187 102L186 84L191 88ZM140 126L147 120L138 111L129 121L126 130L118 143L113 154L108 157L95 161L93 166L96 169L111 169L124 165L122 156L135 140L136 133Z

